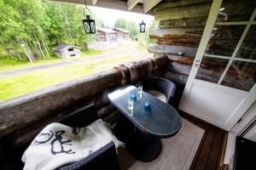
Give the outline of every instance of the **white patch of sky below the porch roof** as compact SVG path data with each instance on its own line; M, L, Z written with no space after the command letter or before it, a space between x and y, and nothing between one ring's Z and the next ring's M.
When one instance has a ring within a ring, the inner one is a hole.
M142 21L146 21L149 26L154 20L154 16L148 14L137 14L131 13L116 9L110 8L99 8L99 7L90 7L93 13L96 14L96 18L101 19L107 26L113 27L114 22L119 18L123 18L125 20L132 20L137 23L137 25Z

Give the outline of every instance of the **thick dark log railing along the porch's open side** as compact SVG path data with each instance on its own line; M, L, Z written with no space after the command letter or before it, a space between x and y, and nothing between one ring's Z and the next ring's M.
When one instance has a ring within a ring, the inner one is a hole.
M96 104L103 120L113 123L119 114L108 103L108 89L160 76L166 71L167 61L166 56L143 59L6 101L0 105L1 142L26 144L50 122L57 122L91 102Z

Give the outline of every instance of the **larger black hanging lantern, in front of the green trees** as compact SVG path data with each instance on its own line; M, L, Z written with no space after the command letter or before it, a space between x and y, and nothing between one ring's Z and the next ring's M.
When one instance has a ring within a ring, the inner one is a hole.
M90 9L87 8L86 1L84 0L84 20L83 20L83 25L84 25L84 30L86 34L95 34L96 33L96 26L95 26L95 20L91 19L91 13L90 15L85 15L85 9L87 9L90 12Z

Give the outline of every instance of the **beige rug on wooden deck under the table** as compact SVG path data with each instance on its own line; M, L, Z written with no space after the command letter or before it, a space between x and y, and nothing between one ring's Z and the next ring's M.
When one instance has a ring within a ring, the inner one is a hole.
M179 132L162 140L160 156L151 162L135 160L125 149L119 149L122 170L187 170L200 144L204 130L183 119Z

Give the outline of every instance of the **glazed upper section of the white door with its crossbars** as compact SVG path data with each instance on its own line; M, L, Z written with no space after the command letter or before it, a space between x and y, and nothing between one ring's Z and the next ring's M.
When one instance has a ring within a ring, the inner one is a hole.
M232 11L225 2L219 8L195 79L249 92L256 82L255 9L252 3L245 14Z

